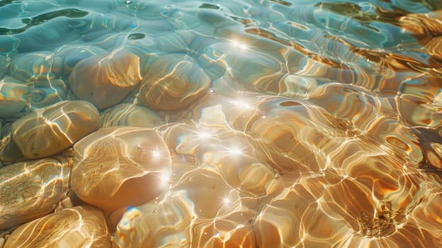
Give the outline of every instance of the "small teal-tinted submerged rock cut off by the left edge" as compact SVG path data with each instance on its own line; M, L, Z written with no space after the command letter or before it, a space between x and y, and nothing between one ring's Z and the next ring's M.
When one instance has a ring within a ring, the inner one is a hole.
M0 81L0 118L9 118L20 113L26 107L28 86L13 77L4 77Z

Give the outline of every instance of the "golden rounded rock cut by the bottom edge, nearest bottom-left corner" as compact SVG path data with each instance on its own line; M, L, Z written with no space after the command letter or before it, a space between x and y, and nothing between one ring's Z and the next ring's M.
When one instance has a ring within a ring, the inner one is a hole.
M21 225L4 248L111 247L103 213L91 206L66 208Z

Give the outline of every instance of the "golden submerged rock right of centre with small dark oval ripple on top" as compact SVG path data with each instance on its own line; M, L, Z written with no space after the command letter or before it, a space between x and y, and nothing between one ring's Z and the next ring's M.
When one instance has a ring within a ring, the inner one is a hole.
M225 101L222 109L228 123L251 135L281 174L322 169L348 128L299 98L244 94Z

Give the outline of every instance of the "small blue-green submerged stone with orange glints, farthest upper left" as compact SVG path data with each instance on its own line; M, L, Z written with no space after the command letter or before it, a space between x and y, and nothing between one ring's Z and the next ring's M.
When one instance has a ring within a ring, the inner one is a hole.
M55 79L61 71L62 58L48 51L21 53L9 65L9 75L21 81Z

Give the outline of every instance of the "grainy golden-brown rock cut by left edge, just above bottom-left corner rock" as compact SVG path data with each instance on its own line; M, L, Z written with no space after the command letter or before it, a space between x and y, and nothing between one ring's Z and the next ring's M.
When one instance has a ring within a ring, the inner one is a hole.
M51 213L67 193L72 160L41 159L0 169L0 230Z

